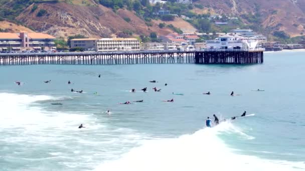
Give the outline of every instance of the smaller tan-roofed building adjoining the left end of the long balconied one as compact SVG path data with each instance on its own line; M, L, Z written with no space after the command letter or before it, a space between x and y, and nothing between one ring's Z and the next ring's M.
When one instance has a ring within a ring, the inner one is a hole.
M81 47L85 50L95 50L96 51L96 38L74 38L70 40L70 47L77 48Z

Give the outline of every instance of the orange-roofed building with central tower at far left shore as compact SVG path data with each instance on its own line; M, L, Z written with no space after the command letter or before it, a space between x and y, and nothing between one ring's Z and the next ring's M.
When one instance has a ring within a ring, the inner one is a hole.
M38 32L0 32L0 51L7 50L53 50L56 37Z

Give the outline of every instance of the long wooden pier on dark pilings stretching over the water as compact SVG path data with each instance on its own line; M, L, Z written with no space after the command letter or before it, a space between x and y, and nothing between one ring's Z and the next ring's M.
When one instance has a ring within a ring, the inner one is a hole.
M249 64L263 63L263 49L203 51L115 51L115 52L54 52L0 53L1 65L31 64Z

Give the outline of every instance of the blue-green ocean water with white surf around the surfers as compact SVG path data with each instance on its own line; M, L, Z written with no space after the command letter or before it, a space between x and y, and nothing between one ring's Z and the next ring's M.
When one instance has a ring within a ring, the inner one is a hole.
M254 65L0 66L0 170L303 170L304 54L266 52ZM207 116L244 110L255 115L205 128Z

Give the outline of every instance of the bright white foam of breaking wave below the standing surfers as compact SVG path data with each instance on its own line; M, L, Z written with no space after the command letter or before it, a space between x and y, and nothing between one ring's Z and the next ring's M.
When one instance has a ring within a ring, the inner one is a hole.
M203 128L177 138L146 140L120 159L104 161L95 170L299 170L302 162L268 160L234 153L217 134L237 132L249 135L230 122L213 128Z

